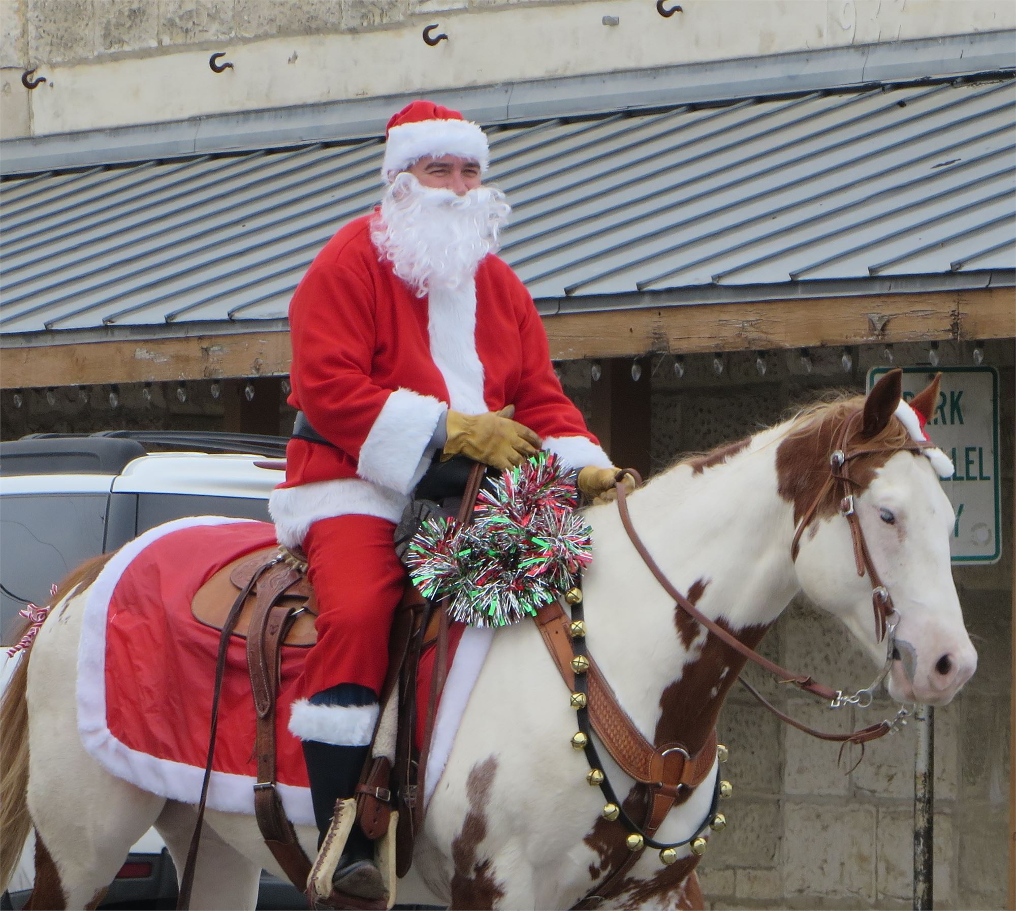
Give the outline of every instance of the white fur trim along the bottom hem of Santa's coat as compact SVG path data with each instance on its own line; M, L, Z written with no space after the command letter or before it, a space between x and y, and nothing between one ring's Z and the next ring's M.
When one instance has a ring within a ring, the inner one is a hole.
M376 515L396 525L408 496L359 478L315 481L299 487L279 487L268 500L275 536L285 547L299 547L310 527L336 515Z

